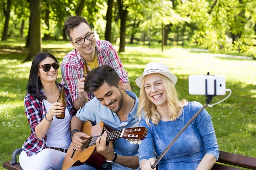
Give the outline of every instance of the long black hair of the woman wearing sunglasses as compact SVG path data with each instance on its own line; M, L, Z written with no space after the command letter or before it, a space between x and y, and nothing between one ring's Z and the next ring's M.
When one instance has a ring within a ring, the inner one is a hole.
M36 56L32 61L32 65L29 73L29 80L27 83L27 92L31 96L36 97L38 100L45 98L45 96L43 96L43 94L40 93L40 89L43 88L43 85L40 81L40 78L38 77L38 71L39 71L38 66L41 63L41 61L43 61L46 57L50 57L57 62L56 57L54 57L54 55L48 52L39 52L38 54L36 54Z

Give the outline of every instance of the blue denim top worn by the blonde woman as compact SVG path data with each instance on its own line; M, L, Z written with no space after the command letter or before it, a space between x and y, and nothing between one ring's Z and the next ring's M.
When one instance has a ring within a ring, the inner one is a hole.
M159 157L200 108L199 102L188 102L179 118L166 122L160 120L155 126L148 126L142 119L139 126L147 127L148 135L139 145L139 161L154 157L153 148ZM158 170L195 170L205 154L218 159L219 153L211 116L203 109L159 161Z

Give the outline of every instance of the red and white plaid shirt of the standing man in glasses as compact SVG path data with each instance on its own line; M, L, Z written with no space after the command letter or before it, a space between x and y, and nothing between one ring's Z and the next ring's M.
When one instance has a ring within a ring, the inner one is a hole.
M119 74L121 81L130 83L117 51L109 41L96 40L96 53L99 66L110 65ZM78 81L83 77L83 57L78 50L73 49L64 57L61 63L61 76L61 83L67 85L74 102L79 96L77 89ZM88 94L88 99L91 100L92 98L94 98L94 95Z

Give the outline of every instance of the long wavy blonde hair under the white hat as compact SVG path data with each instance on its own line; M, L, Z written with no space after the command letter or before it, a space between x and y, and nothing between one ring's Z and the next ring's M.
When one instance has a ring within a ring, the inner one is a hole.
M164 88L167 94L167 109L170 113L173 114L173 116L171 116L171 119L175 120L178 117L179 109L186 105L186 100L179 100L175 85L171 82L169 78L162 74L159 74L159 76L162 78ZM141 89L139 92L139 106L136 116L139 118L139 121L141 120L142 116L144 116L148 126L150 126L150 120L153 125L157 125L160 121L160 115L156 110L156 105L148 99L145 92L144 83L145 77L143 78ZM142 113L143 111L144 114Z

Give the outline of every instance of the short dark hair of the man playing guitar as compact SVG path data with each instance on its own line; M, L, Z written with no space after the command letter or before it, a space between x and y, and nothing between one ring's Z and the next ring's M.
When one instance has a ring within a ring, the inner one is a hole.
M88 93L93 93L103 85L107 83L109 86L118 87L120 77L117 72L109 65L101 65L93 69L87 76L84 90Z

